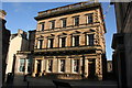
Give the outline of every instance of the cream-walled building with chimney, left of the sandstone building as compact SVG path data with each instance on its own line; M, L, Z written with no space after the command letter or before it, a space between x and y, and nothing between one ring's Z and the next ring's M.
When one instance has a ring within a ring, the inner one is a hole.
M7 70L8 73L14 73L14 65L15 65L15 55L16 51L28 51L28 38L26 38L26 32L22 30L18 30L18 33L11 34L10 36L10 46L8 51L8 57L7 57ZM23 61L21 61L23 62ZM21 70L23 70L21 68Z

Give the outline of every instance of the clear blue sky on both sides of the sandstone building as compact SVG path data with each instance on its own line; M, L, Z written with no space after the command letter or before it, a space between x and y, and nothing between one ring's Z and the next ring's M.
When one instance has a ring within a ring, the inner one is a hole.
M11 33L16 33L18 29L21 29L25 32L36 29L36 21L34 16L37 15L37 12L63 7L70 4L73 2L2 2L2 9L7 12L7 29ZM107 33L106 33L106 51L107 59L112 59L112 35L117 32L117 23L114 15L114 6L109 7L109 2L101 2ZM107 13L106 13L107 12Z

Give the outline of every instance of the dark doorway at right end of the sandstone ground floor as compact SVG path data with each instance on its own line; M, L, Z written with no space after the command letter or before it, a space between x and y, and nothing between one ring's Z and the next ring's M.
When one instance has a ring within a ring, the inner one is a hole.
M95 78L96 73L96 59L88 59L88 78Z

